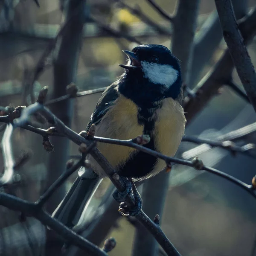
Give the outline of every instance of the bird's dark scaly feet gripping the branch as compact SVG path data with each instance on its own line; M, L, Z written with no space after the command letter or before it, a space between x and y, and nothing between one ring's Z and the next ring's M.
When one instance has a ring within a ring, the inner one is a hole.
M119 205L119 212L123 216L135 216L137 215L138 212L142 209L142 199L141 196L132 180L128 180L127 178L120 177L122 178L122 182L125 186L124 192L119 192L115 191L113 193L113 198L117 202L121 202ZM128 204L125 202L125 197L129 194L132 193L134 197L134 207L129 207Z

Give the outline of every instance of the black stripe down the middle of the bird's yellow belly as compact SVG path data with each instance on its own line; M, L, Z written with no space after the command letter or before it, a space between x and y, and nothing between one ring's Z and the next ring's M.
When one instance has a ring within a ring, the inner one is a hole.
M151 112L151 116L152 115L153 113ZM147 115L142 116L142 113L139 113L138 111L138 123L143 123L143 133L149 134L151 137L150 142L147 145L144 145L144 147L155 150L154 138L151 136L152 131L154 130L155 120L146 120L150 119L151 116L149 115L149 113L147 113ZM136 154L133 154L132 157L128 159L124 166L119 168L119 174L123 177L135 178L136 180L141 179L152 171L156 161L156 157L139 151Z

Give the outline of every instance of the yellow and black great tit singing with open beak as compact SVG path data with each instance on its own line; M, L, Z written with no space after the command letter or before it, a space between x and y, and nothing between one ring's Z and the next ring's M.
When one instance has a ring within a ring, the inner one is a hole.
M127 64L119 64L124 72L102 93L86 131L94 124L95 136L99 137L128 140L147 134L150 141L144 147L173 157L186 125L181 105L180 61L170 49L159 44L143 44L123 52L128 56ZM166 167L164 160L134 148L107 143L97 143L97 148L124 179L141 181ZM80 169L79 176L53 213L68 227L78 223L93 191L106 176L93 157L88 155L87 160L93 175L86 177L86 169ZM116 200L117 197L116 194Z

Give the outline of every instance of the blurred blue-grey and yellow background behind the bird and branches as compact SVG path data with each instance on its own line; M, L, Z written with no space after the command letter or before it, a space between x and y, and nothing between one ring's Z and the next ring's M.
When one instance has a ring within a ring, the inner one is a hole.
M38 2L40 8L37 1L33 0L0 1L2 115L6 113L6 106L11 108L31 104L33 101L31 94L33 93L36 99L39 90L44 86L49 87L48 100L66 94L67 84L56 78L58 70L56 71L54 63L56 61L61 66L70 55L69 53L66 55L60 39L55 41L54 38L70 17L69 1L38 0ZM124 4L128 5L128 8ZM157 4L170 15L175 12L177 5L176 0L157 0ZM256 0L233 0L233 4L237 17L242 18L256 5ZM144 44L163 44L171 48L172 23L164 19L146 0L122 2L87 0L84 5L82 12L86 20L82 39L78 41L76 37L70 37L72 31L60 35L62 39L69 36L67 41L73 47L77 47L73 52L78 49L80 51L77 58L73 54L75 59L70 60L70 65L73 65L70 68L75 74L70 75L75 77L71 81L76 83L79 91L106 87L122 74L123 70L118 65L126 61L122 49L131 50L138 45L138 42L122 38L122 35L129 35ZM164 31L161 32L154 25L145 22L141 15L135 15L129 7L143 13ZM201 0L196 19L195 44L201 40L207 29L213 27L213 23L216 25L211 31L211 37L204 43L204 48L209 45L211 55L205 60L202 56L205 54L205 49L201 51L200 47L197 48L197 51L194 51L195 62L191 67L190 76L184 79L191 89L214 68L226 49L226 44L221 39L214 0ZM118 31L119 37L114 36L107 28ZM68 29L71 27L66 30ZM54 50L45 56L46 49L51 44ZM253 64L256 64L255 40L250 42L247 49ZM44 62L42 70L40 70L41 59ZM69 69L66 72L68 73ZM35 77L35 74L38 75ZM65 77L66 74L63 75L63 79ZM235 71L232 77L234 83L243 90ZM32 87L29 85L31 81ZM102 90L96 92L91 91L91 94L87 93L85 96L61 102L49 101L47 106L74 131L80 132L86 128ZM33 119L32 122L41 128L49 127L38 119ZM240 128L243 129L236 131L235 134L239 135L239 132L248 134L243 136L242 140L236 140L237 145L256 142L254 133L256 115L253 108L232 88L223 86L218 96L215 96L204 110L189 122L185 135L220 141L235 140L236 136L232 131ZM0 138L3 137L5 129L6 125L0 124ZM15 169L15 182L1 188L3 191L29 201L36 201L65 170L67 160L79 155L77 145L72 142L50 138L55 151L47 153L42 141L42 137L38 134L20 128L15 130L12 136L13 156L17 159L27 154L28 159L26 163ZM205 165L215 167L248 184L256 174L255 158L246 154L234 156L223 148L211 148L206 144L198 146L182 142L177 156L189 160L198 156ZM4 166L2 156L0 156L0 166ZM161 226L181 255L256 256L256 202L252 196L221 177L196 171L187 166L173 166L170 174L163 172L161 175L169 182L165 185L166 192L163 192L163 198L165 196L166 198L161 214ZM62 200L76 176L77 173L70 177L65 186L50 199L47 204L49 212L52 212ZM163 177L159 179L163 180ZM146 190L143 190L146 183L139 186L143 198L148 198L144 209L150 218L161 212L161 207L156 209L153 203L157 200L154 195L162 196L161 193L157 193L159 186L162 186L162 183L157 182L157 178L152 178L154 191L151 191L151 194L147 195ZM153 181L154 179L156 181ZM81 233L99 246L102 246L108 237L114 237L117 245L109 253L111 256L146 255L133 251L135 250L133 248L140 247L142 240L139 239L141 234L138 230L143 228L133 218L120 218L117 212L118 204L111 196L112 191L113 186L108 179L104 180L84 213ZM51 256L60 253L64 243L61 237L47 230L33 218L20 222L18 216L18 212L0 207L0 255ZM144 231L141 232L143 235ZM157 252L154 255L165 255L161 249L156 248ZM72 246L64 254L82 255L81 251Z

